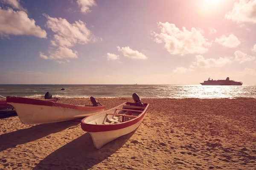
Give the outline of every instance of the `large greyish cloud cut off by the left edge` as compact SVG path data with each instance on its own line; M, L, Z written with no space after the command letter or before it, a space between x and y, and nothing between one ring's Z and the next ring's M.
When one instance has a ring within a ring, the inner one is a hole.
M3 10L0 8L0 35L8 37L13 35L33 35L46 38L46 31L35 25L35 20L29 19L24 11Z

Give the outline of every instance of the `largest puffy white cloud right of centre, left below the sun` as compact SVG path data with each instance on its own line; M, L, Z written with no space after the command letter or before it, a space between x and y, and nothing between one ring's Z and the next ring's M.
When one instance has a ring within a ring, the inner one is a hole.
M164 48L170 54L204 54L212 45L208 39L202 35L202 29L191 28L191 31L186 30L185 27L180 30L175 24L158 23L161 32L158 34L153 32L154 41L157 43L164 42Z

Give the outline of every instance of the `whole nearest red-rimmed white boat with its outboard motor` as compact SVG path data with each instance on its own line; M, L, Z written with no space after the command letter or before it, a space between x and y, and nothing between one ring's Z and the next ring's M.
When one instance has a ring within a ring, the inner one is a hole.
M133 94L135 103L125 102L116 108L82 119L81 128L90 133L97 149L140 126L149 104L142 104L136 95Z

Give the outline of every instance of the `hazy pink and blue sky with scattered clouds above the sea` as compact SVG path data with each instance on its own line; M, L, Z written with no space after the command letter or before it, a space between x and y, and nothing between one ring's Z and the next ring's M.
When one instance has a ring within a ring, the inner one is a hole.
M0 0L0 84L256 84L256 0Z

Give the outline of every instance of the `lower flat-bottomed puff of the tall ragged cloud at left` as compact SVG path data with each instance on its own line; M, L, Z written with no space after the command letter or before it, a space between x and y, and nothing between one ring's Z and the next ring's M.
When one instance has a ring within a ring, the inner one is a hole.
M68 58L77 58L77 51L72 51L67 47L58 47L55 50L50 50L49 57L40 52L40 57L43 59L68 59Z

